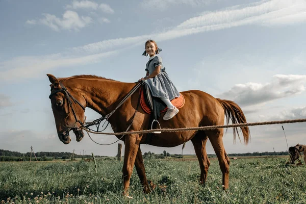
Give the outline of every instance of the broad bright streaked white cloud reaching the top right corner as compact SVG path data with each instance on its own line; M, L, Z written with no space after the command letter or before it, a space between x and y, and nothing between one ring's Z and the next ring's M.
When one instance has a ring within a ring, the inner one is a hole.
M204 13L184 21L177 28L225 29L246 24L291 24L305 22L305 17L306 2L304 0L271 0Z

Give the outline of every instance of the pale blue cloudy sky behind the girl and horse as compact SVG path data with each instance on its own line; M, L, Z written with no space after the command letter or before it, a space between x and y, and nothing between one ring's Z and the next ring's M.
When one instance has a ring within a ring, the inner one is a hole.
M62 144L48 99L47 73L95 74L135 82L145 74L147 39L179 91L234 100L247 121L306 118L304 0L0 1L0 148L116 155L85 137ZM87 120L98 118L86 110ZM305 123L285 124L289 145L305 143ZM281 125L250 127L247 146L224 137L226 151L284 151ZM107 132L111 132L110 129ZM112 136L94 136L113 142ZM142 151L165 148L142 145ZM213 149L208 143L208 153ZM181 146L166 148L179 154ZM187 143L185 154L194 154Z

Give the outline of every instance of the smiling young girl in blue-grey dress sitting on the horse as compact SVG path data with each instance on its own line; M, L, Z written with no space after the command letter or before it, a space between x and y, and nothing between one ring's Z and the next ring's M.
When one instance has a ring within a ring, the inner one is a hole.
M143 56L149 55L149 61L146 64L146 76L139 81L145 80L149 86L152 96L160 98L168 107L164 120L169 120L174 117L179 110L173 106L170 100L180 97L179 91L176 90L168 77L168 74L163 68L162 58L157 56L161 52L154 40L147 40L145 42L145 51Z

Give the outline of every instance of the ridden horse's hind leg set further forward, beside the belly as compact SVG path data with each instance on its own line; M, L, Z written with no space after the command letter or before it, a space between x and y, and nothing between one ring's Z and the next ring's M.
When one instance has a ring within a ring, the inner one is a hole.
M200 184L205 186L205 182L207 179L207 172L210 165L210 161L208 159L206 153L206 142L207 136L205 132L199 131L192 139L191 142L194 146L195 154L199 160L201 176L200 176Z

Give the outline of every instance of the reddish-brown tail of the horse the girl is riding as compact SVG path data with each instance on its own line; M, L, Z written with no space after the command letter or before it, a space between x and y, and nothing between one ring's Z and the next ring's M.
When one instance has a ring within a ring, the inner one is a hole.
M230 119L232 120L233 124L238 124L238 123L246 123L245 116L241 110L241 108L232 100L222 100L220 98L216 98L221 106L224 109L224 114L226 116L226 124L230 122ZM245 127L240 127L243 138L244 138L244 144L247 144L249 139L250 139L250 130L248 126ZM236 133L239 137L239 132L238 132L238 127L233 127L234 131L234 142L236 141Z

